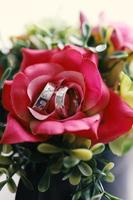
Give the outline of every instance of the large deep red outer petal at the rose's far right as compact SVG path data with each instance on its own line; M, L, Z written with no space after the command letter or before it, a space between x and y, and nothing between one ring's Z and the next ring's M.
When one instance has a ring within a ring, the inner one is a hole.
M133 109L129 108L114 92L110 92L110 101L105 108L100 128L99 142L108 143L128 132L133 125Z

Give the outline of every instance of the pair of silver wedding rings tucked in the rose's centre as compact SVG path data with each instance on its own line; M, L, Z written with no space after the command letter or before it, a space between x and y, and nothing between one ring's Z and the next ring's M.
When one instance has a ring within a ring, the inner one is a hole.
M67 86L57 89L53 83L47 83L33 105L33 109L45 111L50 100L54 97L56 112L63 118L73 115L79 106L79 96L74 88Z

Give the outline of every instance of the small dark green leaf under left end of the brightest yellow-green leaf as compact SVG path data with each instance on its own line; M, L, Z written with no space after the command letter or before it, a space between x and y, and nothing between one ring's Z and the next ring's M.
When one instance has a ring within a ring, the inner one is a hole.
M76 166L79 162L80 160L73 156L66 156L63 160L63 164L65 168L72 168Z

